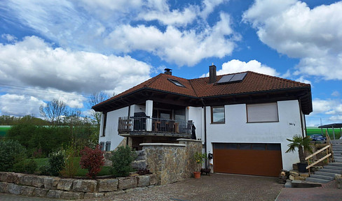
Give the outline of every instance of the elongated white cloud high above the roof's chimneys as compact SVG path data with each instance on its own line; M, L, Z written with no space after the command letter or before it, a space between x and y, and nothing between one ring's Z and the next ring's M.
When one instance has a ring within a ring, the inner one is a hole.
M221 13L220 17L214 27L207 27L200 33L192 29L179 31L172 26L167 26L163 32L152 26L123 25L111 32L105 41L122 52L145 50L179 66L193 66L201 59L222 58L233 51L234 41L239 38L230 27L229 15ZM231 38L227 39L228 36Z

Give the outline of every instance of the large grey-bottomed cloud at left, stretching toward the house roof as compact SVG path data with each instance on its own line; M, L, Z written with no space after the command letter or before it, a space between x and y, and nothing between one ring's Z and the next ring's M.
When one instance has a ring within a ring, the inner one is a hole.
M95 91L125 89L149 79L151 66L129 56L53 48L36 36L14 44L0 43L1 114L37 114L43 101L54 98L82 108ZM27 108L22 109L26 105ZM15 106L16 105L16 106ZM19 106L18 106L19 105ZM39 114L39 113L38 113Z

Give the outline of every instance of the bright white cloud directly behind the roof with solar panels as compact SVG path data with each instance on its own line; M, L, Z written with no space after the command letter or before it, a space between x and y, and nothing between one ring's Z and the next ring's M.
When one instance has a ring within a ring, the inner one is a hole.
M259 61L251 60L247 63L238 59L233 59L222 64L222 68L217 70L217 75L224 75L229 73L240 73L244 71L254 71L256 73L262 73L266 75L277 76L279 73L274 68L261 64ZM201 77L207 77L209 73L202 75Z

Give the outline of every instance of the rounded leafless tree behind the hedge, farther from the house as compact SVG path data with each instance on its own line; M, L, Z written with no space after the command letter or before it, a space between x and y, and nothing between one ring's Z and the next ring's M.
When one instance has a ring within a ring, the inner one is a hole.
M58 125L60 124L61 116L67 112L67 105L63 101L53 99L53 101L49 101L46 105L42 104L39 107L39 111L41 116L47 121L50 121L53 125Z

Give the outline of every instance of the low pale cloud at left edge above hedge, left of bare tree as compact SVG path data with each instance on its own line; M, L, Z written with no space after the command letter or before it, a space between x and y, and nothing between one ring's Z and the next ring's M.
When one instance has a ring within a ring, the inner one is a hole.
M39 117L39 106L43 103L34 96L4 94L0 96L0 114Z

